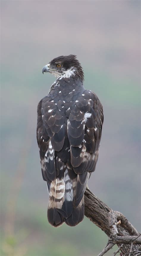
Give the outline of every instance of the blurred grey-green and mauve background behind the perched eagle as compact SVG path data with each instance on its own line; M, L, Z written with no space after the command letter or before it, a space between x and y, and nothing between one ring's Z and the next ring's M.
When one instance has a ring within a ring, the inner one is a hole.
M43 66L68 54L104 108L88 186L140 231L140 1L1 1L1 255L97 256L107 243L86 217L47 221L37 104L55 80Z

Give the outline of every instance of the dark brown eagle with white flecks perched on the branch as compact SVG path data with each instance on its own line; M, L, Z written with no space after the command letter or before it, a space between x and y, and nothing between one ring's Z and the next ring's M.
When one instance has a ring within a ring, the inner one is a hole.
M59 56L43 67L56 77L37 107L37 143L53 227L76 226L84 219L84 192L98 160L103 107L83 86L76 55Z

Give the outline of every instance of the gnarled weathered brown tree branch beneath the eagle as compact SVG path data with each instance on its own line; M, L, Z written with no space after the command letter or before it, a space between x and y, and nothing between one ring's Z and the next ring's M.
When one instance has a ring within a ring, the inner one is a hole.
M120 247L123 255L141 255L141 236L122 213L113 211L88 187L84 193L84 202L85 216L110 237L99 256L104 255L115 244Z

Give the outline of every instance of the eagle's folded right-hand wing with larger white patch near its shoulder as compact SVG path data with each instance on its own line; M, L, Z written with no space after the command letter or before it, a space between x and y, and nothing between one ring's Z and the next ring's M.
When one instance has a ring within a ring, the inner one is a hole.
M85 90L71 107L68 118L71 165L78 175L76 206L82 200L90 173L95 171L103 124L103 108L98 97Z

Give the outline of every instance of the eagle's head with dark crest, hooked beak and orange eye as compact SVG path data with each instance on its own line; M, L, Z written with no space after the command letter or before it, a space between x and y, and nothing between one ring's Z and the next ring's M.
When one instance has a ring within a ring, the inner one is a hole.
M56 78L78 76L84 80L84 73L80 62L76 59L76 55L59 56L43 67L42 72L50 72Z

